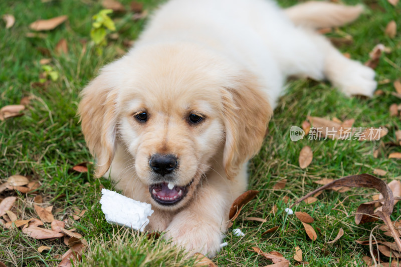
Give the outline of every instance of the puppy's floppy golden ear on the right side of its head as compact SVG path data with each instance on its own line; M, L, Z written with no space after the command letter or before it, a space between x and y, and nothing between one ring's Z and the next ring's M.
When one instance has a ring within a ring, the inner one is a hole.
M251 74L238 77L234 85L224 88L223 106L226 126L223 163L227 177L234 179L242 164L262 146L273 111L257 78Z

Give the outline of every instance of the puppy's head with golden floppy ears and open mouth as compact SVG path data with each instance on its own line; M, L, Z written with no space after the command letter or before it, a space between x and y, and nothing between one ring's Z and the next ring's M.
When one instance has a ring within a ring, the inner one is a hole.
M272 112L256 79L233 66L178 44L137 48L106 66L79 105L96 175L109 169L118 142L132 179L160 209L187 204L212 167L234 179L259 150Z

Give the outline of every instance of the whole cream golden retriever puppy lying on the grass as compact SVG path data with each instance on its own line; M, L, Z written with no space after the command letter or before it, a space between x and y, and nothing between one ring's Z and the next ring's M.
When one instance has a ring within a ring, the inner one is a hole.
M374 72L315 32L361 12L320 2L284 11L269 0L167 2L127 55L82 92L96 175L152 204L148 230L213 256L286 78L372 95Z

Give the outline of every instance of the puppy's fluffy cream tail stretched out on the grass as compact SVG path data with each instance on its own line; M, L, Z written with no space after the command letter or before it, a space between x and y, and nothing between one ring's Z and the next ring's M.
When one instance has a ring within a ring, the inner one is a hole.
M363 7L310 1L285 9L284 12L295 25L319 29L350 23L359 17Z

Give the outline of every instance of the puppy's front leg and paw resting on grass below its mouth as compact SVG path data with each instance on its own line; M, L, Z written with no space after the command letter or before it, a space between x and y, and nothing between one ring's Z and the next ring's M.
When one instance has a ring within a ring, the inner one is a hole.
M204 181L189 206L173 217L166 229L173 244L210 257L220 251L231 204L241 192L233 190L238 182L219 179L220 184Z

